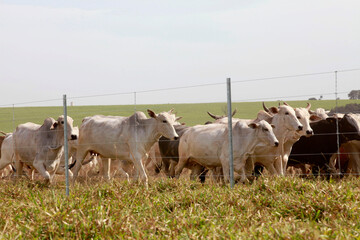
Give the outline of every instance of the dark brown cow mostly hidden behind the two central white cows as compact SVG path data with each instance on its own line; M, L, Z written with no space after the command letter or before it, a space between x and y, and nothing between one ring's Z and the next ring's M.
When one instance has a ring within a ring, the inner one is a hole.
M176 125L174 126L176 133L179 135L179 139L184 134L184 132L189 128L185 125ZM175 164L179 162L179 139L170 140L164 136L159 139L159 149L163 163L163 169L167 176L175 176ZM173 163L172 163L173 161ZM194 179L196 176L199 176L199 179L202 183L205 182L205 175L207 169L197 163L192 163L187 165L187 168L191 169L191 177Z

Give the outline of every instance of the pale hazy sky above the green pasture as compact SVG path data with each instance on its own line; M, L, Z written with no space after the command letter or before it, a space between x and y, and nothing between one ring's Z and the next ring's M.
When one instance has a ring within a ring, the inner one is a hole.
M64 94L74 105L225 102L227 78L234 101L336 90L345 99L360 89L360 71L341 71L360 68L359 9L358 0L1 0L0 107L61 105Z

